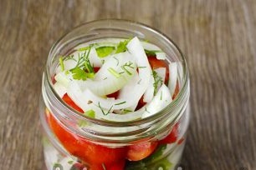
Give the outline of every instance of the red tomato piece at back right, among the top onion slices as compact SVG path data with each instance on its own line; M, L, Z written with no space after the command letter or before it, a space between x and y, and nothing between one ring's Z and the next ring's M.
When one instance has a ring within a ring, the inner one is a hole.
M156 57L153 57L153 56L149 56L147 58L148 58L148 61L151 65L152 69L156 69L158 67L166 67L165 83L168 83L168 80L169 80L169 66L168 66L168 63L165 62L164 60L158 60Z

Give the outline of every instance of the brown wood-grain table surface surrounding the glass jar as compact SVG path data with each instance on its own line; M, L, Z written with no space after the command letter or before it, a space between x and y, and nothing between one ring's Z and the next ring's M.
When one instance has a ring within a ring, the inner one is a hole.
M0 169L43 169L38 97L49 48L100 18L146 23L187 56L192 118L182 170L256 169L254 0L1 0Z

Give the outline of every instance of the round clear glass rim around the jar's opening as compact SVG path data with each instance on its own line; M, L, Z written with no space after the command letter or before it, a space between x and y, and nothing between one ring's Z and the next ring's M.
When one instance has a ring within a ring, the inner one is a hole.
M162 109L160 112L157 112L156 114L151 115L150 117L145 117L145 118L141 118L141 119L137 119L137 120L132 120L129 122L110 122L110 121L105 121L105 120L100 120L100 119L96 119L96 118L92 118L92 117L86 117L83 114L81 114L80 112L77 112L76 110L74 110L73 108L69 107L68 104L66 104L61 97L59 97L59 95L57 94L57 92L55 92L54 87L53 87L53 82L52 82L52 77L49 73L49 67L51 65L52 62L52 57L51 56L53 54L54 48L57 47L59 45L59 42L66 36L69 35L69 33L74 32L75 30L82 28L85 25L90 25L90 24L95 24L95 23L124 23L124 24L131 24L134 25L136 27L145 29L147 31L150 31L154 34L156 34L156 36L159 36L161 38L163 38L166 42L168 42L172 47L175 48L175 50L177 50L178 54L180 55L180 57L182 57L182 87L180 87L180 91L177 94L177 97L175 97L175 99L169 104L167 105L164 109ZM184 95L186 95L186 91L187 91L187 87L189 86L189 78L188 78L188 67L187 67L187 60L184 57L182 51L180 50L180 48L177 46L177 44L175 42L172 41L172 39L170 37L167 37L164 33L162 33L161 31L157 30L156 28L151 28L150 26L147 26L144 23L138 23L135 21L131 21L131 20L124 20L124 19L100 19L100 20L95 20L95 21L90 21L88 23L82 23L79 26L73 28L71 31L66 32L62 37L59 38L59 40L57 40L56 42L54 42L54 45L51 47L50 51L49 51L49 57L47 60L47 64L46 64L46 79L49 83L49 87L51 88L51 91L54 94L54 97L59 101L59 104L64 107L65 109L68 109L69 112L72 113L73 116L75 117L79 117L82 120L88 121L88 122L93 122L93 123L97 123L103 126L108 126L108 127L130 127L130 126L136 126L138 124L144 124L146 122L152 122L160 117L165 117L166 114L169 114L170 112L172 112L172 109L174 107L177 107L177 104L179 102L181 102L182 98L184 97Z

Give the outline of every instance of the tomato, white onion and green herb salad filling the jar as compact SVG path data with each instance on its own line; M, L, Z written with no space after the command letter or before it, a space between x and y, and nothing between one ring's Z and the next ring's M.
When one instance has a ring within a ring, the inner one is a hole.
M78 39L52 48L44 72L46 167L175 168L189 119L182 62L137 35Z

